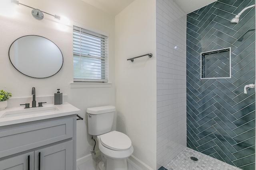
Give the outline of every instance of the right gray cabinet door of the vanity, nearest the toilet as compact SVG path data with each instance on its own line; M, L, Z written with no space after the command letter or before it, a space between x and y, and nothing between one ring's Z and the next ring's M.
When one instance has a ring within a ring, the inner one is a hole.
M35 170L72 170L73 141L35 150Z

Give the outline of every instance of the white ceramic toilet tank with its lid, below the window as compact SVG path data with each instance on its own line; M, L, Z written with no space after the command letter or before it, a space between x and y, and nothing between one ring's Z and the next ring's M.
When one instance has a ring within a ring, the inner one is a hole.
M88 116L88 133L102 135L112 130L115 106L91 107L86 110Z

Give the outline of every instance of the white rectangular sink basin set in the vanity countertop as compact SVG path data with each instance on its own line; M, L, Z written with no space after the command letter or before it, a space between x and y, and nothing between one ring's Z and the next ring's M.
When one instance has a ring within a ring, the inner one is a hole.
M17 109L12 111L6 111L0 118L46 113L51 111L58 111L58 108L56 106L33 107L33 108L27 108L27 109L22 108L22 109Z

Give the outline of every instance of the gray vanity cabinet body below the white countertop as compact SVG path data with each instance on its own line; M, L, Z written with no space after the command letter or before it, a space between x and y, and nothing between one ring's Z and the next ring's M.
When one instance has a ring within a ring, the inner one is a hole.
M0 126L0 170L76 170L76 115Z

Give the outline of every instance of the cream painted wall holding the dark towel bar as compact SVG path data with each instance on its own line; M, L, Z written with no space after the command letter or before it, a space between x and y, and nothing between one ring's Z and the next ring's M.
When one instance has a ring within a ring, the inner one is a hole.
M116 18L117 130L133 156L156 169L156 1L135 0ZM153 57L141 57L146 53Z

